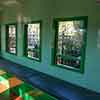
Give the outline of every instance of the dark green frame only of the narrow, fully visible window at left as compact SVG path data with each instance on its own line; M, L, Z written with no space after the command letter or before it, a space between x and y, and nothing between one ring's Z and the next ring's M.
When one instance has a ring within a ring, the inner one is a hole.
M7 45L8 44L8 37L9 37L9 26L10 25L14 25L15 28L16 28L16 31L15 31L16 32L16 34L15 34L15 36L16 36L16 48L15 48L16 53L11 53L9 51L9 46ZM18 37L17 37L17 24L16 23L6 24L6 52L7 53L12 54L12 55L17 55L17 39L18 39Z

